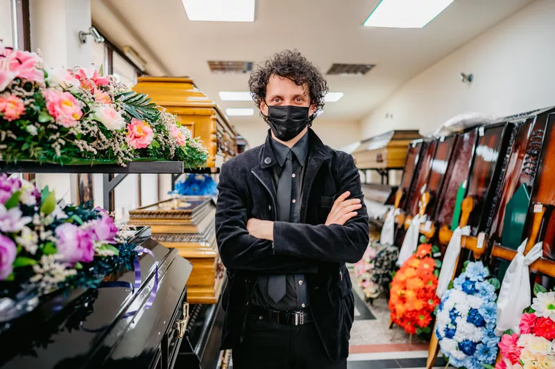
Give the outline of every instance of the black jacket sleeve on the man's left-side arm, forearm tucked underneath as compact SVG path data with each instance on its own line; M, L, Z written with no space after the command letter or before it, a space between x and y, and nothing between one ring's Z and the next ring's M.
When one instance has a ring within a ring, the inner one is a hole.
M302 257L274 255L272 242L250 235L244 191L239 192L233 168L222 165L216 202L216 239L223 264L228 269L260 273L316 273L318 263Z

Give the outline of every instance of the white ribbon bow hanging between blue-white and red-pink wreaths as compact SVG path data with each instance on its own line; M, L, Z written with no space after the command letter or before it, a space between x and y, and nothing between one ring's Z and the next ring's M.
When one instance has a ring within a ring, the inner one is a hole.
M543 243L538 242L524 256L527 241L528 239L524 240L518 247L515 258L511 261L501 284L499 298L497 298L497 327L495 328L495 332L499 335L506 330L520 332L518 325L522 310L531 304L532 296L528 267L543 254Z

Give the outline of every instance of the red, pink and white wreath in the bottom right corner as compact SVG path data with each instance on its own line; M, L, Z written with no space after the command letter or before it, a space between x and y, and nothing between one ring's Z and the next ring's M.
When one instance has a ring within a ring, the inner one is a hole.
M506 332L499 342L502 360L495 369L555 368L555 292L540 285L533 291L536 297L520 318L520 334Z

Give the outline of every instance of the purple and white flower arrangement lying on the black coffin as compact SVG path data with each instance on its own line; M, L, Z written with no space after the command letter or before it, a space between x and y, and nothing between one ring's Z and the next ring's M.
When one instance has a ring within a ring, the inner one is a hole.
M97 287L132 269L136 255L105 210L66 206L48 188L0 174L0 298Z

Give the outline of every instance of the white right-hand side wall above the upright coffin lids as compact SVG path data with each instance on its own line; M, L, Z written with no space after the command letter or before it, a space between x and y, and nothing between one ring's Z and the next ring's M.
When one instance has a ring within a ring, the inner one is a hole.
M531 3L409 80L363 120L363 136L427 134L461 113L506 116L555 105L554 18L554 0ZM474 82L462 83L460 73L473 73Z

